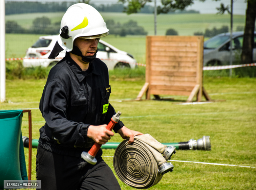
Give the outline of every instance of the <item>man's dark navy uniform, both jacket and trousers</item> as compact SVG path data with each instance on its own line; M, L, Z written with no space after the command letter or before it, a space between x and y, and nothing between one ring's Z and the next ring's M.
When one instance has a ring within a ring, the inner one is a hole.
M46 121L36 156L42 189L120 189L101 149L96 165L80 158L94 144L87 137L88 127L108 124L116 113L108 102L110 93L107 66L97 58L82 71L66 53L51 69L39 105ZM119 121L114 131L123 126Z

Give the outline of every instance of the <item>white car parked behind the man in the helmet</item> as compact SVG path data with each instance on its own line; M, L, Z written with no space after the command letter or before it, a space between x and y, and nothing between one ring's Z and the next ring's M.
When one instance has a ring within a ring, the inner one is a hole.
M57 35L41 36L26 52L26 56L23 59L24 67L32 66L53 66L63 57L65 57L66 51L62 51L54 60L48 59L53 47L57 41ZM106 63L109 70L114 68L135 68L137 61L134 57L125 52L117 49L109 43L99 40L98 52L96 58L101 59Z

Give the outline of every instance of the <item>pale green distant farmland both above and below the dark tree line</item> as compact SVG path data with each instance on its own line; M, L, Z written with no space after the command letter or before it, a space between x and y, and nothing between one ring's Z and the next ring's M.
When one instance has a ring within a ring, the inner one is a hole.
M33 19L36 17L47 16L52 23L59 22L64 12L57 13L29 13L7 15L6 20L15 20L19 25L29 28ZM101 13L104 20L113 19L115 22L124 23L129 20L135 20L139 26L143 26L148 35L154 33L154 17L153 14L132 14L125 13ZM216 14L161 14L157 17L157 34L165 35L168 28L174 28L179 35L193 35L194 32L203 32L206 28L217 27L223 25L229 26L229 15ZM234 29L236 26L244 26L245 16L234 15ZM6 34L6 58L24 57L26 49L28 49L40 35L31 34ZM136 60L145 63L145 36L127 36L119 37L109 35L102 40L114 45L120 50L126 51L134 55Z

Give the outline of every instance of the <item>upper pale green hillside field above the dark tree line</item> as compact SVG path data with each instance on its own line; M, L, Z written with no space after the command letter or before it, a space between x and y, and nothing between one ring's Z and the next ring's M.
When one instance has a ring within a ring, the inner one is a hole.
M52 23L55 23L61 21L63 15L64 12L14 14L7 15L6 20L17 21L23 27L29 28L36 17L47 16L52 20ZM113 19L115 22L120 23L135 20L139 26L143 26L148 31L148 35L154 34L153 14L127 15L126 13L101 12L101 15L104 20ZM168 28L174 28L179 32L179 35L193 35L197 31L203 32L205 28L230 26L230 16L217 14L161 14L157 16L157 22L158 35L165 35ZM245 15L234 15L233 22L234 29L236 26L244 26Z

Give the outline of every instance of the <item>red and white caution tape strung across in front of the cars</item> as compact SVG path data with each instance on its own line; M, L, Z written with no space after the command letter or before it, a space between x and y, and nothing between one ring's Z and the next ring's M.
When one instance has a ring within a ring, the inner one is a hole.
M7 58L5 60L6 61L11 61L11 60L24 60L24 59L48 59L48 58L39 58L39 57L35 57L35 58ZM63 58L56 58L56 59L63 59ZM112 59L101 59L101 60L112 60ZM114 61L117 61L117 60L114 60ZM122 60L122 62L129 63L129 64L135 64L135 65L139 65L139 66L143 66L143 67L146 66L146 64L142 64L142 63L132 63L132 62L127 62L127 61L123 61L123 60ZM256 66L256 63L242 64L242 65L208 66L208 67L203 67L203 70L204 71L223 70L223 69L233 69L233 68L248 67L248 66Z

